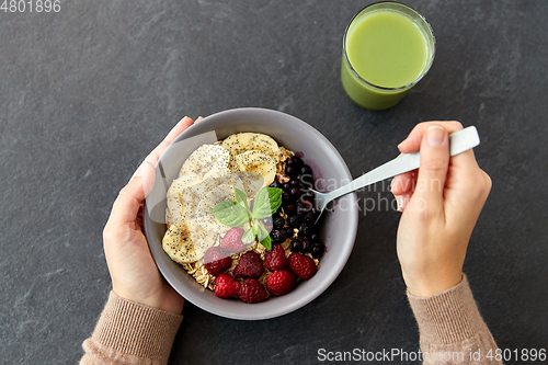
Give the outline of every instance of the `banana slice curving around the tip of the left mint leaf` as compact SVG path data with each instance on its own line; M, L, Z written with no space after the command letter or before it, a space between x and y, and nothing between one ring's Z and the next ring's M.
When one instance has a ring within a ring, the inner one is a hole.
M207 193L202 201L199 201L196 209L196 223L198 226L206 230L214 231L219 235L226 233L230 227L219 223L212 213L212 209L222 201L233 201L235 190L233 186L222 184Z

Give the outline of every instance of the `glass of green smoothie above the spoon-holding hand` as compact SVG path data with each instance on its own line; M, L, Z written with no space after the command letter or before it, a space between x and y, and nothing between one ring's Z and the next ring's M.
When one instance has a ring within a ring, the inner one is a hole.
M344 32L344 91L373 111L398 104L429 71L435 44L430 24L408 5L387 1L362 9Z

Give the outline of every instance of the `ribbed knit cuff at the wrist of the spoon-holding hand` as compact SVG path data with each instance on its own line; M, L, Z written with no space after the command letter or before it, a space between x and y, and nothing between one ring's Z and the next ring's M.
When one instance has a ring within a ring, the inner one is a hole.
M464 275L459 284L443 293L421 298L408 292L408 298L419 323L421 342L449 344L489 332Z

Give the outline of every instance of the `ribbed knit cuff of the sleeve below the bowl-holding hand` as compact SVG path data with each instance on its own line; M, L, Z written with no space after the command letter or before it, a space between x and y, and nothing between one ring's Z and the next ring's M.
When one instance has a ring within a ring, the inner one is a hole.
M142 358L167 363L183 316L118 297L111 292L92 340Z

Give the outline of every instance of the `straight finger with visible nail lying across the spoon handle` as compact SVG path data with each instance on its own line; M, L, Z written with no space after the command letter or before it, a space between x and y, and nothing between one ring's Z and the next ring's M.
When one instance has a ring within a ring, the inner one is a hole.
M412 203L429 209L443 209L444 186L449 167L449 137L439 125L426 129L421 141L421 167ZM414 202L413 202L414 199ZM422 201L419 203L419 199Z

